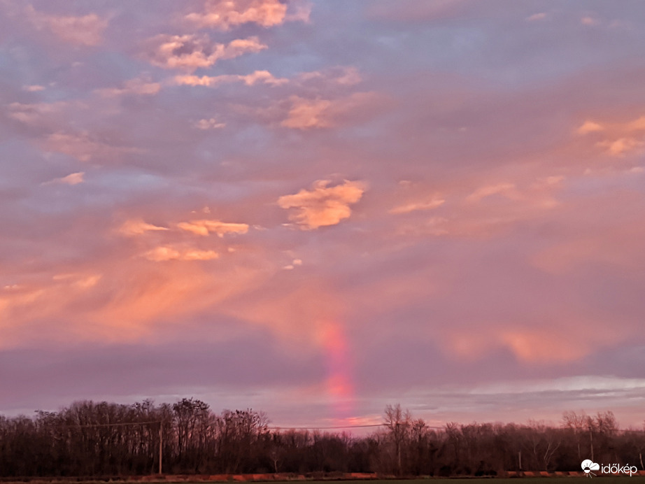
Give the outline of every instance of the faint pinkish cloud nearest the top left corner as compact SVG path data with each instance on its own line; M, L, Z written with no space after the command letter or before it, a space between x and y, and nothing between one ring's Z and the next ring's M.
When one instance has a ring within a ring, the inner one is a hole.
M108 20L101 19L95 13L83 17L47 15L32 6L28 6L26 12L27 18L38 30L47 29L62 41L76 45L99 45L108 26Z

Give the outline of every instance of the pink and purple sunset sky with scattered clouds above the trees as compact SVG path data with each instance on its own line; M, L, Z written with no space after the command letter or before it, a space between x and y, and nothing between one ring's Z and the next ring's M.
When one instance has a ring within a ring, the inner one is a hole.
M645 415L645 3L0 1L0 413Z

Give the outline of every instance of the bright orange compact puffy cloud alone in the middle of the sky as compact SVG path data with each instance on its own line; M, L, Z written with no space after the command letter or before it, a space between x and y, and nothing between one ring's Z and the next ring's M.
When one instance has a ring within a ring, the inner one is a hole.
M313 190L283 195L278 199L278 206L295 208L289 220L296 222L303 230L336 225L351 215L349 206L361 199L365 185L348 180L333 187L327 186L329 183L329 180L318 180L313 184Z

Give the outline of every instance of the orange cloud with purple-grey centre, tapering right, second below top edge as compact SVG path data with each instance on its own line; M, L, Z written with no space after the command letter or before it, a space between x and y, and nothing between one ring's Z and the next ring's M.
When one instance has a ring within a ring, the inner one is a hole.
M148 41L146 57L151 64L164 69L183 69L192 72L210 67L220 59L233 59L248 52L260 52L267 45L257 37L237 38L227 44L213 43L206 35L159 35Z

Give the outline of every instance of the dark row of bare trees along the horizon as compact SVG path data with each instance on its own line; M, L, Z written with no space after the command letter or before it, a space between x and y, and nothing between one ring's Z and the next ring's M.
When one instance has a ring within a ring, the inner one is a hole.
M58 412L0 416L0 476L316 474L495 476L579 471L585 459L643 467L645 429L621 430L611 411L565 412L561 425L448 423L430 427L399 405L367 436L271 429L263 412L215 413L198 399L155 405L77 401Z

